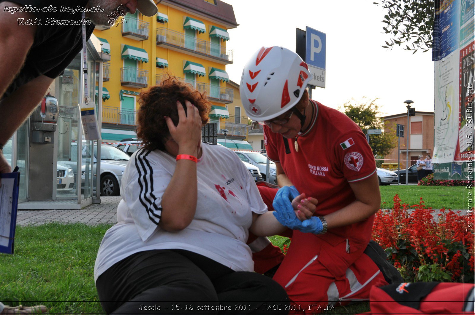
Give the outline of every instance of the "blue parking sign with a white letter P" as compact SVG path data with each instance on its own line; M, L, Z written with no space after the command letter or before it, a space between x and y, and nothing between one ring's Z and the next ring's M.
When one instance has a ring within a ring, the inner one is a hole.
M316 29L305 28L305 62L308 65L325 69L326 34Z

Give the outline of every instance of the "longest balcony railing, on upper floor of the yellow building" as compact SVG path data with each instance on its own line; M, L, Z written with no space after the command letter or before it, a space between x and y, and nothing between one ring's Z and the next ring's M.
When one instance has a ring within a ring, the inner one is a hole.
M226 63L233 62L233 51L207 40L187 36L168 28L157 28L157 45L171 45L184 50L206 55Z

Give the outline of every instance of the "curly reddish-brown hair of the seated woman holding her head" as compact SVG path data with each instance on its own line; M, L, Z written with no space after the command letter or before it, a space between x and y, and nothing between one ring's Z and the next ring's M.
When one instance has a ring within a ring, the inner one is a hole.
M140 108L137 114L137 137L142 145L150 150L165 150L163 139L170 135L163 116L171 118L178 125L177 101L185 105L188 100L198 108L203 126L208 122L211 103L205 93L199 93L191 84L169 76L160 84L140 93Z

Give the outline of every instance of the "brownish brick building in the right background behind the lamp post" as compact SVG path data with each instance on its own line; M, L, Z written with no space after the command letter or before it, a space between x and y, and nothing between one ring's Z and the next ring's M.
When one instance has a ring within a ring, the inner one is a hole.
M394 130L396 124L404 125L404 138L400 139L399 159L401 168L409 167L416 163L419 154L426 157L432 156L434 151L434 113L429 111L416 111L416 116L409 117L410 129L408 129L407 112L384 117L386 132ZM409 135L409 137L408 137ZM409 165L406 166L407 141L409 139ZM391 153L384 157L384 162L398 162L398 147L392 149Z

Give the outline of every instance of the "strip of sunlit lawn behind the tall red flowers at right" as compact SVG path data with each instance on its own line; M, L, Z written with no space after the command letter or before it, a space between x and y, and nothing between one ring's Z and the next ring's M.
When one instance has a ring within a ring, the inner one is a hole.
M463 209L464 206L465 209L467 209L468 191L469 190L465 186L380 186L381 208L392 208L394 195L398 194L399 198L401 199L401 203L404 204L419 204L420 197L422 197L425 205L434 209L441 209L445 207L446 209L460 210ZM386 204L383 204L384 202L386 202Z

